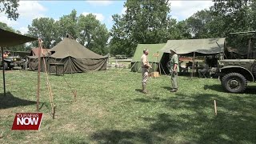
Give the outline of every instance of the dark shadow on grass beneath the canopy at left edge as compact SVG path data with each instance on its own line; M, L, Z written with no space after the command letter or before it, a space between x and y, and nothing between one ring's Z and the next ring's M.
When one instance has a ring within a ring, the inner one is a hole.
M29 106L29 105L34 105L36 103L37 102L34 102L34 101L16 98L10 92L7 92L6 96L4 96L3 93L0 94L0 110L8 109L11 107L17 107L17 106Z

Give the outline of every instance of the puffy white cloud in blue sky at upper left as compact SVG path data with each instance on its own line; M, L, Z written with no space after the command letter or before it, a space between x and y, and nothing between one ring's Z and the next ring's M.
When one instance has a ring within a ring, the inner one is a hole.
M42 18L46 8L37 1L20 1L18 6L18 13L20 18Z

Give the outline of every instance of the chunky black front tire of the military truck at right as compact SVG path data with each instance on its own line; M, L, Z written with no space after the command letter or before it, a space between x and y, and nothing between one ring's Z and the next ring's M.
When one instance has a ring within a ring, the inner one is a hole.
M222 86L227 92L242 93L246 90L247 80L242 74L229 73L222 77Z

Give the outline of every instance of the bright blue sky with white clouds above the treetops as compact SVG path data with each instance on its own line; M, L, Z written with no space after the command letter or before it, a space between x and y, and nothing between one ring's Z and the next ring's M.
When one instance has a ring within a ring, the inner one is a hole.
M17 21L10 21L5 14L0 14L0 22L5 22L15 30L20 30L25 34L28 25L31 25L34 18L54 18L58 20L63 15L70 14L72 10L77 10L80 14L95 14L99 21L106 24L108 30L111 29L113 14L124 14L123 7L126 1L22 1L19 2ZM198 10L209 8L213 5L211 1L170 1L172 18L178 21L189 18Z

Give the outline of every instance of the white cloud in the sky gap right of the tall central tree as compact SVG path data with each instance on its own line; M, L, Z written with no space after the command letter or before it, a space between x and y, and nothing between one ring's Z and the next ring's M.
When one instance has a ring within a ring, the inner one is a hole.
M170 14L172 18L184 20L198 10L209 9L213 5L211 1L170 1Z

